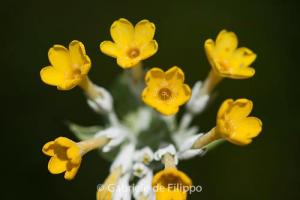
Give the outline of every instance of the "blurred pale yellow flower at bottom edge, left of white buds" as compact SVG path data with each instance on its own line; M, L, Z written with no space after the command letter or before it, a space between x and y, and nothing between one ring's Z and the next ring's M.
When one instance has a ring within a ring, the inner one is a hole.
M112 200L113 191L116 190L118 180L122 175L122 168L114 169L97 190L97 200Z

